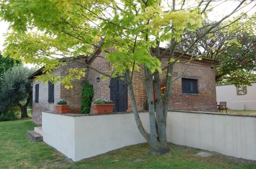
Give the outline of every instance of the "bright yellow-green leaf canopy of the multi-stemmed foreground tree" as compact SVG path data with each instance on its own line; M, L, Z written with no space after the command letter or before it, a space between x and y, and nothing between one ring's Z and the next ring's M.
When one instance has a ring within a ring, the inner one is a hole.
M3 1L1 17L11 23L12 29L7 34L5 53L11 53L13 58L21 58L24 62L38 65L47 63L45 71L50 72L65 64L56 58L90 54L95 47L100 47L108 53L107 59L115 62L114 74L122 74L131 67L138 70L138 64L146 65L154 72L161 69L160 62L151 57L149 47L156 48L160 42L171 39L180 42L185 31L197 32L200 33L199 37L205 37L205 33L212 34L214 27L238 12L239 8L251 4L242 1L220 21L199 29L203 19L207 18L207 12L215 7L214 1L194 2L190 8L185 1L174 2L176 8L159 0ZM222 26L231 25L243 17L245 13ZM255 19L251 20L255 25ZM33 31L34 28L37 31ZM104 42L102 46L99 46L99 41ZM108 51L110 48L115 51ZM83 75L79 71L75 74L76 77ZM63 78L62 82L69 83L68 79L72 78Z

